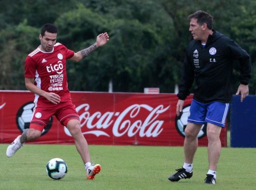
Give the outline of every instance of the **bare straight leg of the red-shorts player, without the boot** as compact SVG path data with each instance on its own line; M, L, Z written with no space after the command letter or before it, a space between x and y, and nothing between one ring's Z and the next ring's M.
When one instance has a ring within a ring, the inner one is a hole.
M80 122L76 119L70 120L67 123L67 129L75 139L76 150L81 155L84 164L90 162L89 148L87 141L85 140L84 135L81 132Z

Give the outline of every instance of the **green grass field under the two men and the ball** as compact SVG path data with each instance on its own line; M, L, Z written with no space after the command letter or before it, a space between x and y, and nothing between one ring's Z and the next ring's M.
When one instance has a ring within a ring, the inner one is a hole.
M12 158L0 144L0 190L255 190L256 148L223 148L217 184L204 184L207 148L199 147L191 179L167 178L183 165L183 147L90 145L93 161L102 165L95 180L87 180L74 145L25 145ZM47 176L52 158L67 162L61 180Z

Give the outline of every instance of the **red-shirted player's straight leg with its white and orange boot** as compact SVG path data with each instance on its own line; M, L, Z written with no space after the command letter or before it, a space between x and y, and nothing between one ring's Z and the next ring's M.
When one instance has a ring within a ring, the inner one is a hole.
M90 163L89 148L87 141L81 132L80 122L76 119L72 119L67 123L67 128L75 139L76 150L79 152L85 164L87 179L94 179L94 176L100 172L101 166L99 164L92 165Z

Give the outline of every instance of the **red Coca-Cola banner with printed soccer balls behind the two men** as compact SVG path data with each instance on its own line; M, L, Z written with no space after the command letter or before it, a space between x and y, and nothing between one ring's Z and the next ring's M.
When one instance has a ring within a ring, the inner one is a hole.
M71 92L79 113L81 130L93 145L183 146L190 95L181 116L176 116L176 94ZM29 91L0 91L0 143L10 143L29 128L34 108ZM206 126L198 144L207 146ZM73 144L67 128L52 116L34 144ZM221 145L227 146L227 131L221 131Z

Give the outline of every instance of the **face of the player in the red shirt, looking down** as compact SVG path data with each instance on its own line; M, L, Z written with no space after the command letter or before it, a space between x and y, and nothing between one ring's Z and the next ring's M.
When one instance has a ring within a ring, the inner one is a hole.
M41 50L43 51L52 51L53 45L56 43L57 34L50 33L45 31L44 36L39 35L39 39L41 41Z

